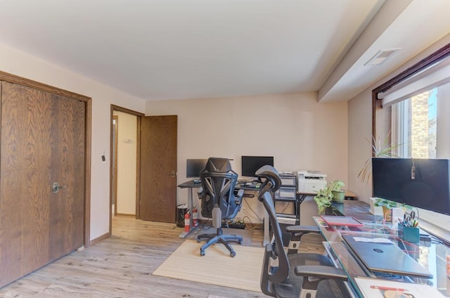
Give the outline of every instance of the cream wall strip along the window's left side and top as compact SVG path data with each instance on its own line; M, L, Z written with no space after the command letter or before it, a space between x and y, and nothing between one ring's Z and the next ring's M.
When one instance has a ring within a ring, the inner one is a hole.
M349 101L349 189L358 195L359 200L367 202L368 197L372 196L371 181L366 184L357 179L359 170L364 166L364 162L371 157L372 152L371 143L366 141L366 139L371 140L372 138L372 90L449 43L450 34L447 34L435 44L411 58L408 63L401 65L397 70L375 82Z

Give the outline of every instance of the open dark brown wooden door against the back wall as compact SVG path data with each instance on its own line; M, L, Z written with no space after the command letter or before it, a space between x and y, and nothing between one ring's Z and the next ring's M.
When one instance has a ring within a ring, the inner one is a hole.
M140 219L175 222L177 116L141 117Z

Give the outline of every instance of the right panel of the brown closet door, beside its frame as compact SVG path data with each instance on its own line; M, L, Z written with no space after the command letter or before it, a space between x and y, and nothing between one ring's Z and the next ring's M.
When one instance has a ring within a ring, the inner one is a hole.
M84 103L52 96L51 177L61 189L50 196L51 260L83 245Z

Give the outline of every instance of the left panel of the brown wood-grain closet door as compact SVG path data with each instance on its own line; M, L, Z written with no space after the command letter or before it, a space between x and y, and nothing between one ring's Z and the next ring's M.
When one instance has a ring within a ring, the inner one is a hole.
M50 94L2 85L0 285L49 259L51 161Z

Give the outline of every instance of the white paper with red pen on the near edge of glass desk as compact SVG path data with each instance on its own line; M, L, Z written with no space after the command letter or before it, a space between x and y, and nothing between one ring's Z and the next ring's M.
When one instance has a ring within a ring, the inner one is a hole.
M401 283L377 278L355 278L355 280L364 297L445 298L435 287L420 283Z

